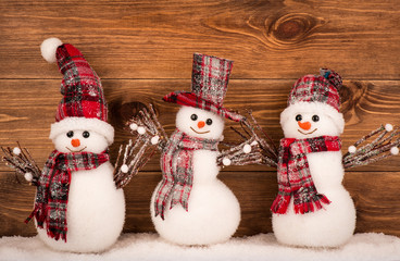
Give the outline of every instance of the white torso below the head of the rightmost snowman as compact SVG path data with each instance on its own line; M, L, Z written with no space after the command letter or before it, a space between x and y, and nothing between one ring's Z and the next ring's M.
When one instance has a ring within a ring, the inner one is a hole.
M291 199L286 214L273 214L274 234L285 245L340 246L351 238L355 228L354 204L341 184L345 174L341 152L313 152L307 157L317 191L330 203L315 212L297 214Z

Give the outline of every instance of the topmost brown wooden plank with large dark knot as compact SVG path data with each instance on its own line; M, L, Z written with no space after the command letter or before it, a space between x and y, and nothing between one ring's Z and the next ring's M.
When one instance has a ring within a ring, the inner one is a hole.
M235 61L233 78L399 79L398 0L0 2L0 78L57 78L39 45L76 45L103 78L188 78L191 55Z

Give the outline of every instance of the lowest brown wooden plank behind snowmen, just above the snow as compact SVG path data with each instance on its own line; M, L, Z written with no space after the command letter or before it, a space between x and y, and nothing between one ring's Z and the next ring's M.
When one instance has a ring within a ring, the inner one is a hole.
M277 192L275 172L224 172L220 178L235 192L241 206L236 236L272 232L270 207ZM124 189L125 233L154 232L149 206L159 172L142 172ZM400 172L348 172L345 187L357 207L357 233L377 232L400 236ZM32 236L32 223L23 221L33 208L35 188L18 185L14 175L0 172L0 235Z

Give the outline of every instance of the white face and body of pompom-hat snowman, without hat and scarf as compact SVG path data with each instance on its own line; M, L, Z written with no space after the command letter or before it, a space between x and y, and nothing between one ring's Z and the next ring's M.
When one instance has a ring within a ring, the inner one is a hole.
M89 133L86 138L83 137L85 132ZM73 135L68 137L68 133ZM108 147L100 134L79 129L61 133L53 142L55 149L65 153L100 153ZM66 241L54 240L46 229L37 228L39 237L49 247L72 252L99 252L116 241L124 225L125 198L123 190L115 187L113 171L114 167L107 161L96 169L71 173Z

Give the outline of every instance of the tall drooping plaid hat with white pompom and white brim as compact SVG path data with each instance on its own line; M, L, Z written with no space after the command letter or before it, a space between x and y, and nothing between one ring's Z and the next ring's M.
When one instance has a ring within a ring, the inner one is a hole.
M49 38L41 44L41 54L48 62L58 62L64 75L55 123L51 125L50 139L72 129L92 130L105 137L109 145L114 139L114 128L107 123L108 105L101 82L78 49Z

